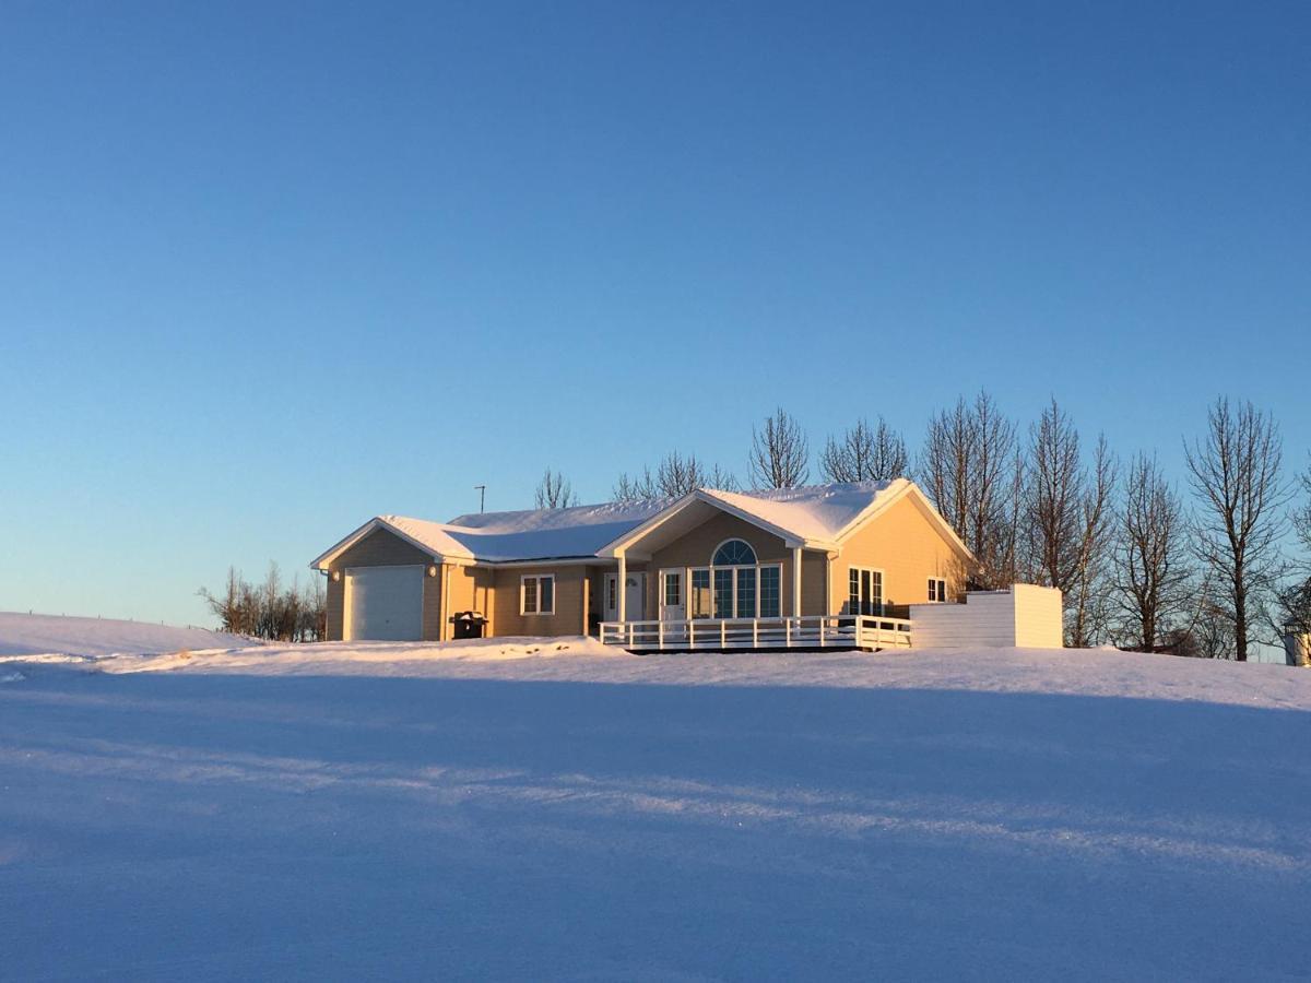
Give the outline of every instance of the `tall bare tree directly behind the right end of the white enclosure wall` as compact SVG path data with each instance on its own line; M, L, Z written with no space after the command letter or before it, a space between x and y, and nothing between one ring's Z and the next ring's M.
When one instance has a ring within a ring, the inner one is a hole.
M1068 644L1088 645L1106 613L1101 579L1113 528L1117 467L1103 436L1088 471L1079 431L1055 400L1029 430L1029 463L1025 523L1030 570L1065 595Z

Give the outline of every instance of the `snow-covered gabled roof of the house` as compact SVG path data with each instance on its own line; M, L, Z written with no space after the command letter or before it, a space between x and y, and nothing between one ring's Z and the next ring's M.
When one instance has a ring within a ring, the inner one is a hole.
M573 509L473 512L439 523L404 515L370 519L311 566L323 569L376 528L385 528L433 556L456 562L527 562L612 557L663 530L663 535L699 524L709 510L725 511L771 532L789 547L835 549L903 497L920 510L962 556L970 550L924 493L907 478L856 481L763 492L697 489L682 498L610 502Z

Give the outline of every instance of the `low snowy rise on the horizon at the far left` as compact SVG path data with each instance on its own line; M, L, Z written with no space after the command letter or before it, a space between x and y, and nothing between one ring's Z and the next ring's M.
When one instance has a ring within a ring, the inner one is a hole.
M170 628L100 617L58 617L0 612L0 655L151 654L180 649L233 649L254 645L239 634L205 628Z

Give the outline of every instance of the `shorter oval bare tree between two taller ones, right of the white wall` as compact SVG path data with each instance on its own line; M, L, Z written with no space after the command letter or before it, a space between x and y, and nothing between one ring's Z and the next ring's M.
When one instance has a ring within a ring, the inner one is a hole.
M1116 600L1133 646L1154 651L1179 626L1196 594L1188 520L1155 457L1139 453L1124 488L1114 548Z

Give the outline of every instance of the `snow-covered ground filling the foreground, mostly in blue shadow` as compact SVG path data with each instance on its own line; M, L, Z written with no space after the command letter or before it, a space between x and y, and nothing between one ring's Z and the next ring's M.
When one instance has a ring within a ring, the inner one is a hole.
M0 976L1311 965L1302 670L187 647L0 665Z

